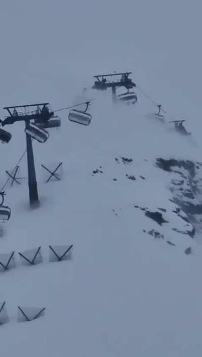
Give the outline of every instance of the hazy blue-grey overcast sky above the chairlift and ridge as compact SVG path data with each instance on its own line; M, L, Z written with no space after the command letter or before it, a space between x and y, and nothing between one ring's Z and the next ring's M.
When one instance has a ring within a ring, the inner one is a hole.
M199 117L201 10L199 0L2 0L1 116L26 102L58 108L94 74L131 70L171 113Z

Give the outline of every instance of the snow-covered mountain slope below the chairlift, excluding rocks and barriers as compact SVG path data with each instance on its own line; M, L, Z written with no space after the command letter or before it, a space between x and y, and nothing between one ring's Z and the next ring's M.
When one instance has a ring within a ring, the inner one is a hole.
M50 129L46 144L34 143L40 208L28 208L26 181L7 190L12 218L1 252L41 245L44 260L24 267L16 257L16 269L1 275L1 300L7 301L11 319L1 327L1 352L199 356L200 243L173 232L171 224L158 227L134 208L166 207L165 219L173 222L167 173L155 166L155 158L160 148L165 158L175 147L177 158L196 159L198 150L148 119L150 108L142 106L141 96L135 107L114 107L106 95L97 97L89 127L63 115L61 129ZM23 139L20 127L16 132ZM4 146L12 156L14 141ZM23 140L19 146L15 159ZM124 164L121 157L133 161ZM40 164L60 160L63 180L45 184ZM93 174L96 169L103 173ZM25 159L21 170L26 173ZM143 232L152 229L176 246ZM73 260L48 263L49 244L73 244ZM188 246L194 255L184 254ZM17 324L17 305L46 307L46 314Z

